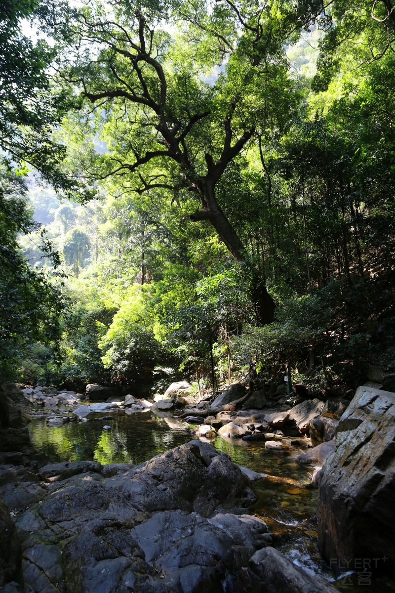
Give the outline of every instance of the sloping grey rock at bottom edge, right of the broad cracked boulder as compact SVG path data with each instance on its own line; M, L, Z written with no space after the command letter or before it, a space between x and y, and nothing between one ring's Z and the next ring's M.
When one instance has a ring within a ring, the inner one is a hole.
M257 587L258 584L258 587ZM240 570L235 593L336 593L337 589L316 575L294 565L272 547L258 550Z

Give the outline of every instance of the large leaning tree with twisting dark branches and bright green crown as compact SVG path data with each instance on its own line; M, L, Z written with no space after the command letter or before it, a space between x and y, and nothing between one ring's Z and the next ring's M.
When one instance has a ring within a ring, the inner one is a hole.
M89 3L90 4L90 3ZM322 10L317 0L145 2L78 11L75 55L63 78L79 89L79 119L108 152L81 148L78 174L117 178L123 192L195 196L192 221L208 221L232 256L248 252L217 187L258 136L287 122L291 84L284 44ZM95 128L94 128L95 123ZM94 130L94 131L93 131ZM258 273L253 299L262 322L274 302Z

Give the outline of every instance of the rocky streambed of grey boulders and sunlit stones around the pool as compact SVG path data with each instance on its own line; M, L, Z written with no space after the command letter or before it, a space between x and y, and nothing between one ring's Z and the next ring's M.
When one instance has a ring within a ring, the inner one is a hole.
M169 422L193 422L198 438L191 435L190 442L137 465L50 464L32 449L23 414L13 410L11 426L1 431L0 452L0 584L5 591L188 593L203 587L236 593L257 584L259 591L335 590L270 545L268 525L249 511L254 495L248 472L209 442L219 433L225 441L243 439L246 446L262 441L274 454L279 448L285 454L300 449L300 461L319 469L326 457L330 461L336 455L338 420L333 416L341 415L346 404L306 400L278 412L241 385L211 403L194 401L185 387L183 393L175 386L172 390L156 401L112 394L105 403L83 405L86 396L72 392L18 391L17 399L30 399L35 413L45 414L54 426L108 414L111 429L112 413L147 409ZM249 408L251 398L262 408ZM306 449L310 436L318 450ZM324 481L321 474L317 482Z

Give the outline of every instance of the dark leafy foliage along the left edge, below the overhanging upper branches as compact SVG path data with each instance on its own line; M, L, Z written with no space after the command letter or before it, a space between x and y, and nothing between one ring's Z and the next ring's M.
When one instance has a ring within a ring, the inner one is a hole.
M0 376L13 378L15 365L30 343L59 346L59 316L67 300L61 284L44 270L34 270L18 245L18 234L36 229L21 177L0 168ZM60 264L41 231L41 253L49 257L54 270Z

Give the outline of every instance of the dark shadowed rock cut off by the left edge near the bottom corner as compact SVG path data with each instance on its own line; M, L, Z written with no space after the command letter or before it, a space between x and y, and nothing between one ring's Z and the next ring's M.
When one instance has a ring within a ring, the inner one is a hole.
M23 584L21 560L17 530L0 495L0 587L12 581Z

